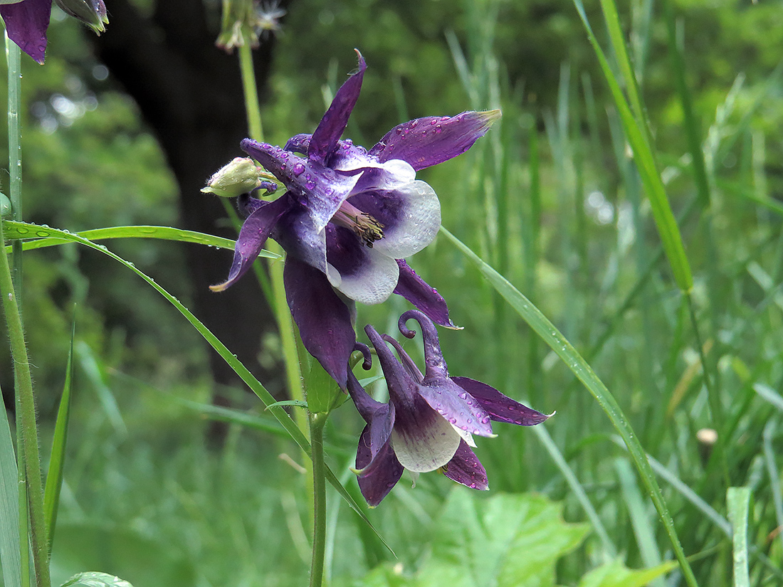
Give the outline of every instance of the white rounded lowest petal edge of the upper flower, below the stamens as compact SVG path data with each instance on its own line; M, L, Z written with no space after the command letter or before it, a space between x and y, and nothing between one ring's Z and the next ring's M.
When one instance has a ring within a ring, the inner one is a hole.
M362 304L386 301L397 286L397 261L374 248L365 249L366 259L353 274L341 274L332 265L327 267L329 283L352 300Z

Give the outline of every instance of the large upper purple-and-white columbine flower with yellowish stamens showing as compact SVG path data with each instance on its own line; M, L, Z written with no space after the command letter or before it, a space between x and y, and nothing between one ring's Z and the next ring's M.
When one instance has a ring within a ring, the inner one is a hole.
M247 272L266 239L276 239L288 253L287 300L305 348L343 388L355 343L354 301L377 304L394 292L438 324L453 326L443 298L403 261L440 227L438 196L416 171L464 153L500 117L493 110L419 118L391 129L369 151L341 141L366 69L357 54L359 70L337 90L312 135L296 135L283 149L242 141L287 192L273 202L240 199L247 220L229 279L212 286L225 290Z

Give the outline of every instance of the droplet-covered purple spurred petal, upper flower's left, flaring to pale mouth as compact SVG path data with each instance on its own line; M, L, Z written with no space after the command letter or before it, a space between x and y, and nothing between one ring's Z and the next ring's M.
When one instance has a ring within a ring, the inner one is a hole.
M244 139L240 146L286 186L320 232L351 194L359 175L338 174L315 160L266 142Z

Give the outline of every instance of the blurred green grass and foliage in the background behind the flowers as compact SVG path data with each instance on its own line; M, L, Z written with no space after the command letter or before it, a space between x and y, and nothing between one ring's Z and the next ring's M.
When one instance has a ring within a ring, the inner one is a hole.
M137 2L142 10L151 4ZM265 139L282 145L315 128L355 67L354 48L368 63L346 132L358 144L369 147L413 117L502 108L502 121L469 153L420 173L441 198L443 225L557 324L618 398L645 450L700 496L695 505L682 486L662 481L684 549L699 555L693 564L700 584L731 585L731 540L708 510L726 516L728 481L751 488L749 540L754 553L774 561L752 556L752 584L780 585L783 413L774 398L783 380L783 6L763 0L670 5L702 131L709 207L692 204L696 186L662 5L632 0L621 6L621 20L669 200L675 214L691 210L680 228L695 273L702 344L723 406L720 421L709 415L687 308L666 261L656 257L650 207L571 2L292 0L273 41L262 105ZM218 2L204 6L213 15L219 8ZM587 5L587 14L605 43L597 3ZM177 186L161 149L133 100L93 56L86 34L55 9L45 67L23 59L24 218L71 232L179 226ZM7 182L4 171L4 189ZM194 292L181 246L140 239L108 244L189 305ZM224 255L227 272L230 253ZM473 584L614 585L580 578L610 560L640 568L669 558L626 452L566 366L446 239L410 262L464 326L441 333L451 373L485 381L543 412L557 410L545 426L608 535L607 541L593 528L574 538L540 582L532 575L530 582L521 575L507 582L489 568ZM210 441L215 385L200 336L107 257L65 245L27 253L24 263L44 447L74 307L77 315L76 395L54 577L89 567L120 574L135 587L302 585L309 565L305 480L278 458L301 462L301 455L276 434L238 424L224 441ZM222 303L218 295L214 303ZM401 299L359 308L358 324L391 333L406 308ZM258 330L258 362L274 369L279 342L269 328ZM5 354L0 369L9 394ZM235 409L269 420L243 389L219 391ZM327 427L327 459L356 495L347 467L362 426L348 403ZM444 516L460 500L482 511L502 492L536 492L561 502L569 523L584 522L540 437L496 428L499 437L481 439L477 449L491 496L466 496L465 488L449 494L451 482L437 474L420 477L413 489L403 477L369 513L396 559L330 494L327 562L334 585L454 585L428 569L438 560ZM709 443L698 440L698 431L708 428L729 448L725 466L709 459ZM485 564L481 556L475 561ZM378 565L382 572L363 578ZM675 571L655 585L680 580Z

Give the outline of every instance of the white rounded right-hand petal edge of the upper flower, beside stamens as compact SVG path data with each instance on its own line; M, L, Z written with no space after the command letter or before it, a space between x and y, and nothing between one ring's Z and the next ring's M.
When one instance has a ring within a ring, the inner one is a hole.
M440 201L427 182L417 180L394 190L403 200L395 225L384 228L384 237L373 247L389 257L404 259L418 253L435 239L440 229Z

